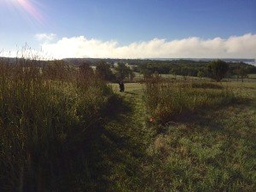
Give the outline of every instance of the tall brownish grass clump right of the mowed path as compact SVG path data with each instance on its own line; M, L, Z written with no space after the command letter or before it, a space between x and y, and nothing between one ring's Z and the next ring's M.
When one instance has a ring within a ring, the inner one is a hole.
M180 114L228 104L236 98L234 90L221 84L148 81L145 87L148 113L162 124L177 119Z

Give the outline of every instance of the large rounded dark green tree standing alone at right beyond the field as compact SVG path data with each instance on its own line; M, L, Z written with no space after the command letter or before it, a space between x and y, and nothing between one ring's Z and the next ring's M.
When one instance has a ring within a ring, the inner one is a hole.
M225 61L221 60L211 61L207 65L208 76L217 82L219 82L221 79L224 79L228 70L229 65Z

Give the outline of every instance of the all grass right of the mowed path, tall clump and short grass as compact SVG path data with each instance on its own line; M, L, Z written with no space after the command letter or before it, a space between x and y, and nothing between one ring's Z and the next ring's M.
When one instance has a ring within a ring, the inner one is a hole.
M165 112L172 115L164 119L160 114L151 122L155 133L143 164L143 190L255 191L254 85L147 84L146 89L154 87L149 95L154 100L146 95L147 108L150 103L151 111L167 106ZM154 96L155 89L160 98Z

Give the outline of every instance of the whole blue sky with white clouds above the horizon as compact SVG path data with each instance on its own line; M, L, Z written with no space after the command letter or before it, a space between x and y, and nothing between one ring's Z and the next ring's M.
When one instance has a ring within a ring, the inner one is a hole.
M256 59L256 0L0 0L0 56Z

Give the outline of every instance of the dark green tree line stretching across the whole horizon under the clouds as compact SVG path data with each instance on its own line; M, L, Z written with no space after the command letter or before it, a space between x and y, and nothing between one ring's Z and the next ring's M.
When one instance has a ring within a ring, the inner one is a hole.
M17 60L1 58L15 64ZM20 59L21 60L21 59ZM26 60L26 65L34 61ZM247 78L247 74L256 73L256 67L242 61L192 61L192 60L136 60L136 59L76 59L69 58L55 61L36 62L41 73L46 73L51 79L64 79L70 73L77 73L78 77L92 76L92 73L109 82L132 80L135 73L143 75L144 79L152 78L155 74L172 74L186 77L209 77L219 81L223 78ZM95 70L92 69L95 68ZM215 74L214 74L215 73ZM65 77L64 77L65 76Z

